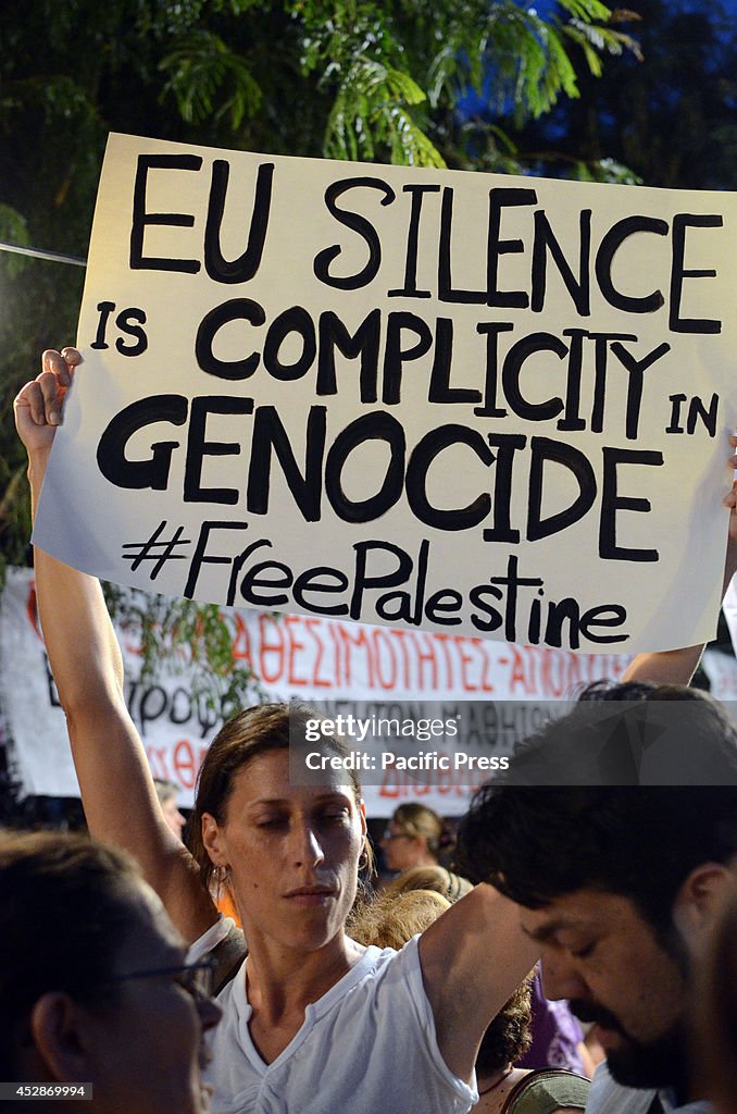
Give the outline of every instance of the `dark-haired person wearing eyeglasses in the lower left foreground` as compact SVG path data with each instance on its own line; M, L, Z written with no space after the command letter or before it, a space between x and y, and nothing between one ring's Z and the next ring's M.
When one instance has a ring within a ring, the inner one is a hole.
M185 954L128 856L0 832L2 1108L206 1114L203 1036L220 1010L212 964Z

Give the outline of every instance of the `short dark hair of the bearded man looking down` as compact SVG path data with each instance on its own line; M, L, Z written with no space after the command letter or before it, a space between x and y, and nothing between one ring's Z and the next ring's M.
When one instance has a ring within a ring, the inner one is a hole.
M621 710L611 703L622 701ZM638 783L650 747L659 758ZM561 784L561 769L570 783ZM668 932L690 871L737 852L737 732L697 690L588 690L570 715L522 744L505 782L474 797L460 869L528 908L599 889L629 898Z

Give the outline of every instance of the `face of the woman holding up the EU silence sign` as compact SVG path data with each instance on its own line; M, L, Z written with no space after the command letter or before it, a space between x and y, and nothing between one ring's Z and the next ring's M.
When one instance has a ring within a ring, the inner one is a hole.
M366 821L351 784L289 784L287 750L235 776L225 823L203 817L213 862L229 870L249 946L258 935L316 950L342 931L353 905Z

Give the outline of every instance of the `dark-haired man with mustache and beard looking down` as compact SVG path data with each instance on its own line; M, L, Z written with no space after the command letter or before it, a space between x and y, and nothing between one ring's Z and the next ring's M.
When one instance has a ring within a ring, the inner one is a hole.
M689 974L737 853L737 730L680 685L594 686L474 799L464 873L520 906L543 989L596 1022L589 1114L697 1101Z

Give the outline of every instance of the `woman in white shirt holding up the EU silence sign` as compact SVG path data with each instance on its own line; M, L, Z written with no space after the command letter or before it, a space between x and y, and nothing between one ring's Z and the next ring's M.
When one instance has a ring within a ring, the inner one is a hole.
M79 362L75 349L46 352L41 374L16 400L35 498ZM291 784L288 714L279 705L240 713L213 743L187 851L163 817L125 705L98 582L39 550L36 561L90 831L136 856L191 942L193 960L228 936L208 881L224 881L235 896L248 958L218 999L214 1108L368 1114L391 1095L403 1114L468 1111L481 1036L537 958L515 907L481 885L400 952L351 940L345 919L366 850L360 788L331 763L322 784ZM696 659L696 651L650 655L633 673L682 680ZM330 746L332 758L340 754Z

